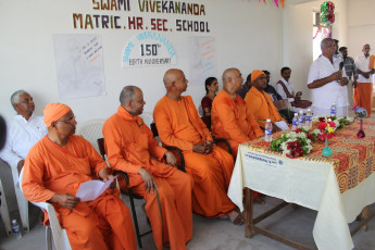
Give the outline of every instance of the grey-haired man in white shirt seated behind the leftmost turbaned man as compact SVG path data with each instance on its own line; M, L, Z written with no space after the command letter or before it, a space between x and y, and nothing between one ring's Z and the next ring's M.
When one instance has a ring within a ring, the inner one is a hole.
M27 201L18 186L18 174L24 166L28 151L47 135L48 130L43 117L33 115L35 104L28 92L25 90L15 91L11 97L11 102L17 114L8 123L7 141L0 151L0 158L12 167L22 224L24 229L28 229Z

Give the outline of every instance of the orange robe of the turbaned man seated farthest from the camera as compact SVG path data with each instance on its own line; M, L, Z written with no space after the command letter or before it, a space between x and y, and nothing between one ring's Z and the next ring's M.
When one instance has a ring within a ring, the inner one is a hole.
M246 107L254 115L260 127L264 129L265 120L271 118L272 123L284 121L286 122L278 110L274 105L271 97L264 92L259 91L255 87L252 87L245 97Z

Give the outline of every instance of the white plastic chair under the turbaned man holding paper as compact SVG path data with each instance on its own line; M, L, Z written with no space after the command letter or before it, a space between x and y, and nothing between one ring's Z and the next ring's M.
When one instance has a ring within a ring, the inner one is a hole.
M20 188L22 191L22 177L24 174L24 170L21 171L20 174ZM46 226L46 246L47 250L52 250L52 236L54 248L57 250L71 250L71 243L68 241L66 230L60 226L58 216L55 214L53 205L47 202L32 202L33 204L39 207L40 209L47 211L48 217L50 221L50 225ZM51 234L52 233L52 234Z

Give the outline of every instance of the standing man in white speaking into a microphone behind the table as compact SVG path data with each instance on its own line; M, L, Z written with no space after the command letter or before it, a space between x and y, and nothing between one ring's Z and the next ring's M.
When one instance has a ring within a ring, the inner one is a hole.
M314 115L329 115L336 104L338 116L348 115L348 77L342 72L343 64L334 58L335 41L325 38L321 42L322 55L310 66L308 88L311 89Z

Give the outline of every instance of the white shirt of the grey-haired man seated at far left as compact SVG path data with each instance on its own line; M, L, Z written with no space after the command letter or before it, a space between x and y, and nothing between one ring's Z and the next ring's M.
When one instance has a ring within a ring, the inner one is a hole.
M11 165L25 160L32 147L48 133L43 117L33 115L28 121L22 115L14 115L7 129L7 141L0 158Z

